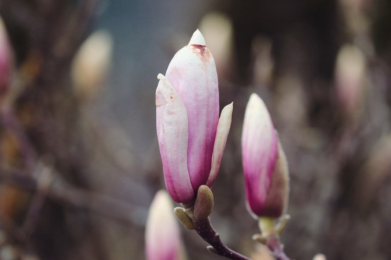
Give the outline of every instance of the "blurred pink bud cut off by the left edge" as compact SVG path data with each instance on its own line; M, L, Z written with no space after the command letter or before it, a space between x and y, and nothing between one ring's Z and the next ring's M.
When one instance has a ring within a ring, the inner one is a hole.
M11 84L12 51L3 20L0 17L0 101Z

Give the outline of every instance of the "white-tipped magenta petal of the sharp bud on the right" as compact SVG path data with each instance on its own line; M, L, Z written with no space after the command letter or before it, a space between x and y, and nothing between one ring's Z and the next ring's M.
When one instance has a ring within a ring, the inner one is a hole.
M277 158L277 140L265 103L251 94L244 114L242 164L250 209L262 215Z

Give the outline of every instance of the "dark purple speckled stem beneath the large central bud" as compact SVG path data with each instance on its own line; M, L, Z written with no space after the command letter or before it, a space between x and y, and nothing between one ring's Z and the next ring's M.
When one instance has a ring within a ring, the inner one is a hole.
M240 255L239 253L233 251L232 249L224 245L223 242L221 242L220 235L216 233L216 231L212 227L212 224L210 224L209 218L203 220L195 220L194 230L203 240L213 246L213 248L216 250L217 255L225 256L233 260L251 260L250 258L244 255Z

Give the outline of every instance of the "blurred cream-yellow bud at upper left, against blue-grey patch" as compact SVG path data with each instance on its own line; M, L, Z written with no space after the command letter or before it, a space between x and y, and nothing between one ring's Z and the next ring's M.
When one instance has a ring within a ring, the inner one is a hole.
M80 46L71 69L79 100L93 100L100 93L109 73L112 52L113 39L105 30L94 32Z

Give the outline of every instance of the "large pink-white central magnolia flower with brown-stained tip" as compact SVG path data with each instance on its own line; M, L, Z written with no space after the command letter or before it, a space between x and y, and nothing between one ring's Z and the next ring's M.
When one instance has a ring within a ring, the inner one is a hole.
M196 30L172 58L156 89L156 130L167 191L191 201L200 185L211 187L231 126L232 103L219 120L215 62Z

